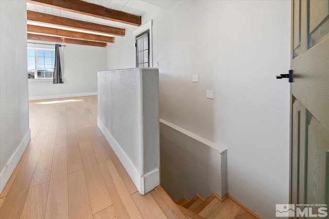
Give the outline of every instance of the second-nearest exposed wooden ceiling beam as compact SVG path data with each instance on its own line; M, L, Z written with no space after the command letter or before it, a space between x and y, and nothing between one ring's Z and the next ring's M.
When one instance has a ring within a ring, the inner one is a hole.
M51 24L60 27L69 27L79 30L87 30L87 31L112 34L118 36L124 36L125 33L125 30L122 28L95 24L85 21L78 21L74 19L68 19L66 17L54 16L54 15L39 13L35 11L27 11L27 20L31 22Z

